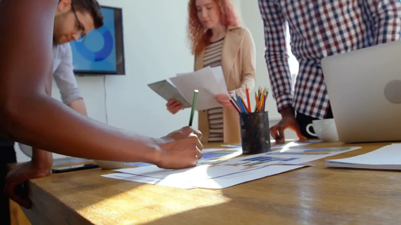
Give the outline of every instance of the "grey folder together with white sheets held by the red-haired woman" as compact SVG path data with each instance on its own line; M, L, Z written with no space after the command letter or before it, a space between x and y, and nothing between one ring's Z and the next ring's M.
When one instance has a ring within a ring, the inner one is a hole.
M178 100L184 105L183 108L191 107L194 90L199 90L195 108L198 111L220 107L215 96L228 94L221 66L208 66L195 72L176 74L175 77L148 86L165 100Z

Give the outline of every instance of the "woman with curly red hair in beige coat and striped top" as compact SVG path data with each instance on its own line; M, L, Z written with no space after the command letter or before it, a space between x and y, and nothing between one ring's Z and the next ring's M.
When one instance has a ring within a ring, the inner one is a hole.
M239 26L231 0L190 0L188 39L195 56L194 70L221 66L229 93L246 97L255 86L255 44L251 33ZM240 143L238 112L227 94L218 94L221 107L199 112L202 142ZM167 109L175 114L182 104L174 99Z

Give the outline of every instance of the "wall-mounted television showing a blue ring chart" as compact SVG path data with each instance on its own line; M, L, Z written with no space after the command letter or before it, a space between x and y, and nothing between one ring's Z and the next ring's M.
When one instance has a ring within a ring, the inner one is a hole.
M101 6L104 25L89 32L83 42L72 41L77 75L125 75L122 9Z

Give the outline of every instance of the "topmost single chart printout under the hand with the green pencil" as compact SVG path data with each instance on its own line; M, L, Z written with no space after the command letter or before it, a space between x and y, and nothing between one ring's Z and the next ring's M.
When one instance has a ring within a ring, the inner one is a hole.
M359 148L360 147L288 149L286 151L280 150L269 153L261 153L245 157L215 161L188 169L160 169L155 165L151 165L147 167L117 169L115 171L145 177L165 179L169 182L192 182L196 180L210 179L235 173L241 173L243 171L257 169L268 165L294 165L306 163Z

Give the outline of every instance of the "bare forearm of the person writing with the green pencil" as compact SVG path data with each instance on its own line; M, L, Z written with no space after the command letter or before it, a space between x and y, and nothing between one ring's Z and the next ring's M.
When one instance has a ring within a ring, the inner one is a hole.
M156 163L154 139L85 117L45 93L16 99L8 132L15 141L72 157ZM28 104L28 102L30 104Z

